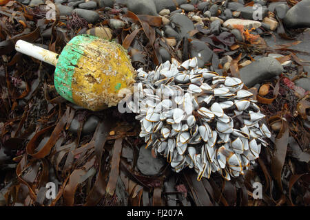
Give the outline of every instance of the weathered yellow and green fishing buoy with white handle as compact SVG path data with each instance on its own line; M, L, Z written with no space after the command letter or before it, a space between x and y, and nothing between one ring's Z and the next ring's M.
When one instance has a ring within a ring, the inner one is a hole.
M87 34L75 36L60 55L22 40L15 49L54 65L56 91L85 109L100 111L116 106L123 98L118 92L134 85L130 57L114 41Z

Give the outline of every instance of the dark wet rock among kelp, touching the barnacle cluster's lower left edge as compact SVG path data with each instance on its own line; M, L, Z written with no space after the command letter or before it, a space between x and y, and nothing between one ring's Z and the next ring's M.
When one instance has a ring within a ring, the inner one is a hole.
M145 146L141 146L139 150L136 167L143 175L157 175L161 171L161 168L165 166L165 159L162 157L152 157L151 148L145 148Z

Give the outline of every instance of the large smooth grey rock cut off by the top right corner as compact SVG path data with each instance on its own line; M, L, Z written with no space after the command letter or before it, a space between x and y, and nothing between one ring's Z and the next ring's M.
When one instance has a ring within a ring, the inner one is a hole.
M290 8L283 23L287 28L310 28L310 0L302 0Z

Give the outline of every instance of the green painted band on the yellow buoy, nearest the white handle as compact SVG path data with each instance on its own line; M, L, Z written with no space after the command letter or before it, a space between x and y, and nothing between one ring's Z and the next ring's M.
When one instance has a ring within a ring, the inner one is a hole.
M54 85L56 91L70 102L74 103L71 87L74 70L84 54L84 48L95 39L98 37L87 34L75 36L65 45L59 55L54 74Z

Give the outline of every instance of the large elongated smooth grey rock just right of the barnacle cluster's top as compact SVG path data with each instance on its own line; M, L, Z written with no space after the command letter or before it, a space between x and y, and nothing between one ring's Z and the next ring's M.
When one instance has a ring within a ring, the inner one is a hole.
M263 57L240 69L240 77L247 87L253 87L263 80L279 76L284 71L275 58Z

